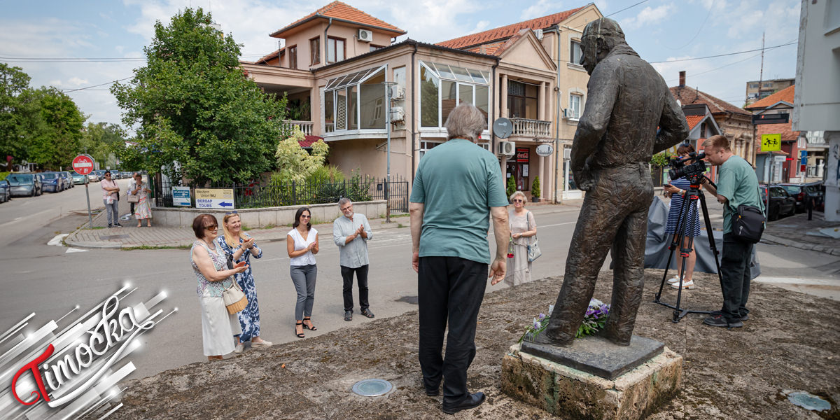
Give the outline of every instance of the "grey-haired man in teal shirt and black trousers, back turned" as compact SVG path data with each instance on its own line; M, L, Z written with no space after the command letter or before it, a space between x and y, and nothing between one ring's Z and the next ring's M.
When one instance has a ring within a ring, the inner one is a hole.
M475 144L486 124L478 108L454 108L446 120L448 140L426 152L417 166L408 207L423 387L426 395L437 396L444 380L442 409L447 414L478 407L485 400L484 393L467 390L467 369L475 357L476 321L491 264L490 218L496 236L491 284L505 278L507 264L510 228L499 161Z

